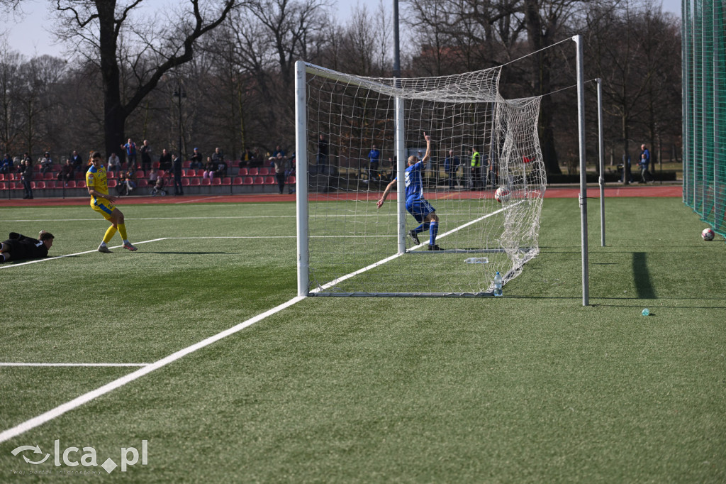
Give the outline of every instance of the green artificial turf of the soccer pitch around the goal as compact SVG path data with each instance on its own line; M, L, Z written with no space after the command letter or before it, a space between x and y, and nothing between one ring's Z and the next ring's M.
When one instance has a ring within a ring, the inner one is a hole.
M1 237L76 255L0 265L0 432L32 427L0 482L724 482L724 241L680 199L613 198L603 248L595 205L590 307L575 199L474 299L293 299L293 203L123 206L139 251L113 254L86 206L3 209Z

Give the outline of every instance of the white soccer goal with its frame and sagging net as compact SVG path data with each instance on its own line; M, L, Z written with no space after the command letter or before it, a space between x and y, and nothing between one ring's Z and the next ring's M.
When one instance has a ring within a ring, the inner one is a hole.
M537 255L540 98L503 99L499 73L365 78L297 62L298 295L487 296L495 273L506 283ZM420 222L405 209L404 183L376 203L404 180L409 156L423 158L424 134L440 251L428 250L428 227L420 243L410 237Z

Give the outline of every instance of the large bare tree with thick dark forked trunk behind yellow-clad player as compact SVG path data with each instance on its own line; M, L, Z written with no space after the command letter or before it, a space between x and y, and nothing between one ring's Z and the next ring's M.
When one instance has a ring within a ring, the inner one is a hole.
M132 17L143 0L52 0L62 39L101 73L106 151L124 142L126 119L170 70L192 59L195 43L220 25L238 0L189 0L187 9L150 39ZM128 39L127 39L128 38ZM122 48L124 47L124 48ZM139 63L144 53L153 65Z

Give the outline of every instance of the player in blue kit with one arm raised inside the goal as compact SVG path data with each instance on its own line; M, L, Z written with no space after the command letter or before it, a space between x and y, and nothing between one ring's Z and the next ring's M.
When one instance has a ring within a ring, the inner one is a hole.
M406 209L409 214L419 222L419 226L409 231L409 237L415 243L420 243L418 240L418 234L424 230L428 230L428 250L430 251L441 251L441 247L436 245L436 234L439 233L439 216L436 215L436 209L423 198L423 180L421 179L421 170L425 165L428 158L431 158L431 137L425 133L423 137L426 140L426 153L423 158L418 159L416 156L409 156L408 166L405 172L405 183L406 183ZM388 193L391 192L393 186L396 185L398 177L391 180L386 190L383 192L383 196L378 201L378 208L383 206L383 202L388 198Z

